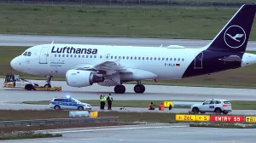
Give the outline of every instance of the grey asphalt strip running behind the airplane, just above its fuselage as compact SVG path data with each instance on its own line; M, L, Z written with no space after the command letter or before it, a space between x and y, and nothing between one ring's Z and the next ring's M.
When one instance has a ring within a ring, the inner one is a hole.
M40 36L40 35L9 35L0 34L0 46L35 46L46 43L73 43L121 46L163 47L182 45L186 48L201 48L211 40L167 39L167 38L136 38L136 37L72 37L72 36ZM247 50L256 50L256 42L249 41Z

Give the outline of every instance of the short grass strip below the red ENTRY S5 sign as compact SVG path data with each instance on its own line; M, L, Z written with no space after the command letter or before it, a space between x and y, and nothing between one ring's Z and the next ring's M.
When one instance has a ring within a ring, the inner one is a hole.
M256 124L249 123L189 123L190 127L256 129Z

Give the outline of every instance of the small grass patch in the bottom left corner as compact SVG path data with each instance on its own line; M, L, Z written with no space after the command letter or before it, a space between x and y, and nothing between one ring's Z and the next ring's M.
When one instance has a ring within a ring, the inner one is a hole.
M35 139L35 138L50 138L61 137L62 134L44 134L34 133L33 131L23 132L0 132L0 140L18 140L18 139Z

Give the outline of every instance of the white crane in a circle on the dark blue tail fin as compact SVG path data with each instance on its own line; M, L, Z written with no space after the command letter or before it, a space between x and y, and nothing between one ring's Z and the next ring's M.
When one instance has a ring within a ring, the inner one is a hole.
M230 26L224 32L224 42L232 49L240 48L246 41L246 32L241 26Z

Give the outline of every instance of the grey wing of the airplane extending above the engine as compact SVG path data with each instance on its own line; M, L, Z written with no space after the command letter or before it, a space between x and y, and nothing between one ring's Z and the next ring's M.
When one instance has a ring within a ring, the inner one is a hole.
M73 69L105 73L129 72L128 70L126 70L125 66L121 66L117 61L104 61L98 65L79 64L77 66L74 66Z

